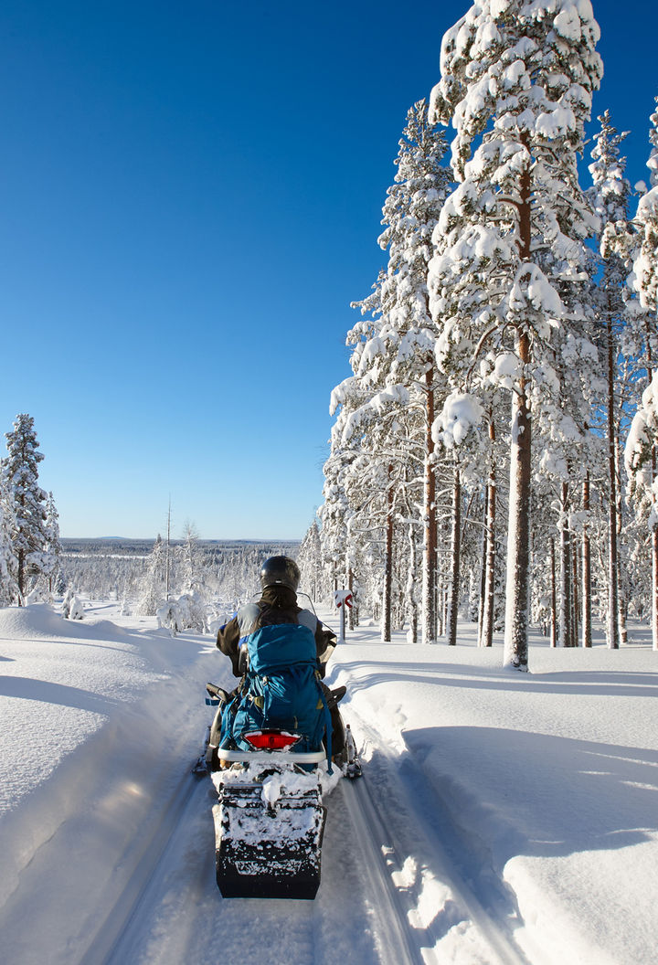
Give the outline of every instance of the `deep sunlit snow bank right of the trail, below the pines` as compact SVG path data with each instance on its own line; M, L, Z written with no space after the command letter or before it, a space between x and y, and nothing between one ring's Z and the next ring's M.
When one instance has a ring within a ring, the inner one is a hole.
M401 754L427 809L451 823L467 878L513 890L534 963L649 965L658 949L658 655L648 646L551 649L502 668L460 646L348 635L333 679ZM368 750L367 750L368 753ZM422 862L423 856L418 860Z

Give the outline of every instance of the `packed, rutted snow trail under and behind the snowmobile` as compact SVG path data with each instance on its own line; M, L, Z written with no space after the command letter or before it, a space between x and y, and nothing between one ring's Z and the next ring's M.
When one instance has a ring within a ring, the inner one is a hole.
M422 769L408 754L382 750L362 722L352 724L373 750L364 777L343 781L327 800L315 901L222 899L214 884L214 789L185 774L132 853L129 883L81 965L214 965L254 954L296 965L527 965L501 931L500 907L485 911L448 857L452 833L441 814L425 810L431 797ZM505 899L488 881L482 890L490 904Z

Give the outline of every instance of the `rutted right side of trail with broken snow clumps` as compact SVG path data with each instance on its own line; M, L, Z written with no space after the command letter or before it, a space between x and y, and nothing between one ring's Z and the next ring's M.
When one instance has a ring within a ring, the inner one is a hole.
M383 965L440 965L446 960L441 939L454 925L466 923L480 933L487 965L527 965L499 916L492 917L482 905L482 900L500 902L501 896L493 894L487 882L479 889L480 900L467 883L465 869L449 856L449 850L458 852L461 844L447 811L428 813L426 803L432 798L424 793L422 767L409 753L392 753L380 734L350 716L362 742L365 738L373 748L364 777L345 782L344 796L364 850L363 867L381 904Z

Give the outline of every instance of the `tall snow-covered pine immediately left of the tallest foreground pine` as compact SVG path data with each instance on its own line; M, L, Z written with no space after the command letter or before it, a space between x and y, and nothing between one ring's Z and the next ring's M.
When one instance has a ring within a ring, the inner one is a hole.
M383 207L385 230L378 240L383 249L388 249L388 265L374 293L354 303L370 320L355 325L348 336L348 343L359 352L360 371L364 371L364 362L374 363L376 380L371 374L373 366L368 366L367 374L376 398L366 404L379 410L380 421L388 420L388 457L398 468L404 467L388 487L389 509L398 500L398 516L401 513L404 517L403 506L421 502L410 497L409 487L418 485L419 469L423 469L424 643L436 639L436 494L431 427L438 391L433 359L436 329L429 314L426 277L431 236L450 192L451 178L442 164L445 152L443 132L428 124L425 100L418 101L407 113L396 159L398 172ZM385 527L388 542L391 521L389 514ZM410 530L407 524L406 529L408 536L415 536L415 528ZM416 557L415 547L410 547L409 561L414 567ZM411 574L407 588L410 583Z

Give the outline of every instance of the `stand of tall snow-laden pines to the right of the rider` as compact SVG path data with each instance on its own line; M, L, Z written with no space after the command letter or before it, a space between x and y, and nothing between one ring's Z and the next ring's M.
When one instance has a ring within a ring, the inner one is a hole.
M658 649L658 109L632 187L623 118L586 142L598 40L589 0L485 0L407 114L300 552L383 641Z

